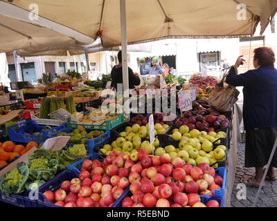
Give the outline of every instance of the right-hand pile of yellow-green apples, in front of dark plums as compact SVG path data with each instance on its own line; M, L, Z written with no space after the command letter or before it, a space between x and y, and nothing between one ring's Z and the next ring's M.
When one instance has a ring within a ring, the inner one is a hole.
M217 161L224 161L226 146L218 145L213 150L213 142L218 144L218 142L220 143L220 140L216 142L218 138L226 137L224 131L218 133L214 131L209 133L206 131L200 132L197 129L190 131L188 126L183 125L180 128L173 129L170 137L179 142L178 147L175 148L173 145L168 145L165 148L159 147L155 150L155 155L168 153L172 159L181 157L186 163L194 166L203 162L212 165ZM217 164L215 164L215 167L217 167Z

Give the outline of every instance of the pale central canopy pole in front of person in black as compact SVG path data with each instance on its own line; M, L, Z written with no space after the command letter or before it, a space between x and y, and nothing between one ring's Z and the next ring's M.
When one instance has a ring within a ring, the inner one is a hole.
M122 70L123 70L123 95L124 103L129 108L129 76L127 61L127 27L126 27L126 1L120 0L120 27L122 47ZM125 93L128 92L128 93Z

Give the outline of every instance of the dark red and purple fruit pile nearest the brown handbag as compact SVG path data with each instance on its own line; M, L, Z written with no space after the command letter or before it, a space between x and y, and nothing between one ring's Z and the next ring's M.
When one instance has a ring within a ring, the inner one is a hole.
M182 117L175 122L177 126L186 125L190 128L190 131L197 129L199 131L220 131L222 128L228 128L230 125L229 119L224 115L197 115L193 116L193 113L186 111Z

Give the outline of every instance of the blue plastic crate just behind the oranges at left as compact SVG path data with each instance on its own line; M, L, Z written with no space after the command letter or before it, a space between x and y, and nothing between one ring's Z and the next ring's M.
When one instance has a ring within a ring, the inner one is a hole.
M42 144L46 141L51 133L55 132L55 130L60 130L66 127L66 124L62 124L55 128L51 128L46 131L42 131L45 126L40 126L34 120L29 120L26 122L21 122L19 124L15 124L8 127L8 135L10 140L13 142L21 142L27 144L28 142L34 141L37 144ZM25 133L39 133L39 135L28 135Z

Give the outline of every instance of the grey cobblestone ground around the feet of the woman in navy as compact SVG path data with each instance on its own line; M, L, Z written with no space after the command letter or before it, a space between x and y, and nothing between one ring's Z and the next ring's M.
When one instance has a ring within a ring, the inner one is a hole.
M250 207L258 192L258 188L252 188L247 186L247 196L246 200L238 200L236 195L240 195L240 189L237 189L237 185L240 184L240 179L242 177L251 177L255 174L254 168L244 167L244 144L238 145L238 164L237 171L235 174L235 183L233 186L232 196L231 196L231 206L233 207ZM265 180L265 188L260 191L257 207L277 207L277 181Z

